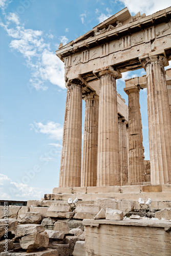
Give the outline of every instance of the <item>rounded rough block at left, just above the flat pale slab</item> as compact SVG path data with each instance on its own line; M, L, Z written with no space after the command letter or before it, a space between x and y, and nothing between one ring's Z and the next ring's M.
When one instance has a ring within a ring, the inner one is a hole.
M41 220L39 212L23 212L17 219L20 224L39 224Z

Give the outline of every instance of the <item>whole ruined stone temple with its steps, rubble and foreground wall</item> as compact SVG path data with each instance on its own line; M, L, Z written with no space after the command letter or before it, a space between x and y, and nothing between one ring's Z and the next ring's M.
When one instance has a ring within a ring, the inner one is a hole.
M59 45L67 87L59 187L27 206L9 206L7 222L0 206L1 255L171 255L171 69L164 70L171 60L170 17L171 7L149 16L124 8ZM146 75L125 80L127 106L116 79L140 68Z

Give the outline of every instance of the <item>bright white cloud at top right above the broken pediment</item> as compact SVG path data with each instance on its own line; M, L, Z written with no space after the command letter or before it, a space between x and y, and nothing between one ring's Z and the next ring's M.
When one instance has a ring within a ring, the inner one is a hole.
M170 6L170 0L119 0L119 2L123 3L134 14L141 12L141 14L145 13L146 15L153 14Z

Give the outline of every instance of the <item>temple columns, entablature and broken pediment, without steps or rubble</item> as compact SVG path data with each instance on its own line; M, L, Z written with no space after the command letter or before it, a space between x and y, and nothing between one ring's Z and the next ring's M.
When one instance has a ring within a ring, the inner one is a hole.
M149 16L131 16L124 8L59 45L56 55L65 62L67 87L59 187L171 183L171 72L164 69L171 59L170 34L170 8ZM116 79L141 68L146 76L125 80L127 107L117 94ZM141 88L147 88L148 174ZM82 99L86 109L81 151Z

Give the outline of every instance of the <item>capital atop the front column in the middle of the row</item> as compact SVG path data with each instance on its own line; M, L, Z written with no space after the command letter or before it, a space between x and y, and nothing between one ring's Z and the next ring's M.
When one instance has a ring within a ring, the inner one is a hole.
M97 69L93 73L96 74L96 76L99 78L104 75L112 75L115 79L122 77L120 71L118 69L114 69L112 66L107 66L103 69Z

